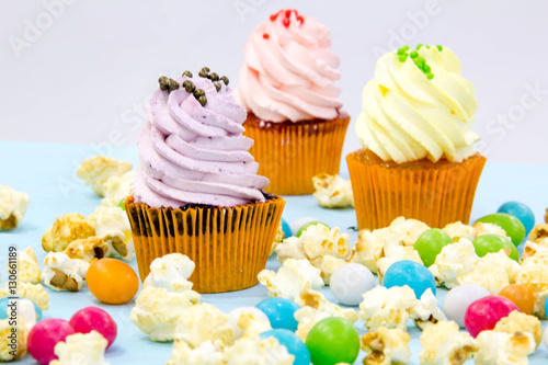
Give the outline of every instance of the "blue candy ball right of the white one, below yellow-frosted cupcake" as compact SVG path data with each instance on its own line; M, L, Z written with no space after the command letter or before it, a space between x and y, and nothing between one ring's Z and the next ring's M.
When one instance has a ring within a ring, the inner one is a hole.
M385 273L383 285L386 287L408 285L420 298L430 287L436 295L436 281L434 275L418 262L401 260L395 262Z

